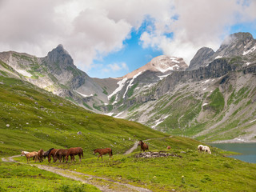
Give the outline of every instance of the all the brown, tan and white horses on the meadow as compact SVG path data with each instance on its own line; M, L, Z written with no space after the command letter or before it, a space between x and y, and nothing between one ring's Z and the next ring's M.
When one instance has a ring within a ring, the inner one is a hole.
M138 142L138 146L141 146L141 151L143 152L145 150L149 150L149 146L146 145L145 142L142 142L140 140ZM170 146L167 146L167 149L170 150ZM105 149L96 149L93 150L93 154L99 154L98 158L102 157L103 154L109 154L110 158L113 158L113 153L111 148L105 148ZM199 145L198 146L198 151L204 151L208 154L211 154L209 146L203 146ZM35 162L39 161L42 162L43 159L48 158L48 162L50 163L51 158L53 158L53 162L68 162L69 156L70 156L70 161L75 162L75 155L79 156L79 161L81 162L81 158L83 158L83 150L81 147L72 147L70 149L54 149L50 148L50 150L44 151L44 150L38 150L38 151L33 151L33 152L27 152L27 151L22 151L22 156L26 156L26 161L27 163L30 162L30 158L33 158Z

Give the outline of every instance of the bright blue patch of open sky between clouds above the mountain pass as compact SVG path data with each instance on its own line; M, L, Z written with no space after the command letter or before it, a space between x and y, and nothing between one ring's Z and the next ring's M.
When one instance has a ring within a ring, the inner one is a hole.
M162 50L157 47L142 47L140 37L146 30L147 26L151 26L151 24L148 23L148 19L142 23L142 26L138 30L133 29L131 31L130 38L123 41L122 50L110 53L101 59L94 60L94 66L87 71L90 77L122 77L125 74L146 65L146 63L150 62L152 58L162 55ZM124 63L126 67L122 67L122 69L120 69L118 66L122 66ZM102 67L102 70L95 70L98 69L99 66Z

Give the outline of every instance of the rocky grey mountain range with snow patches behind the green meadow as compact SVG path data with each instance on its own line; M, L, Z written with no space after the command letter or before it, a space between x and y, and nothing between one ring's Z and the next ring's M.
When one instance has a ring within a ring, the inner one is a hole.
M256 40L231 34L187 66L165 55L121 78L90 78L59 45L45 58L0 53L0 75L22 78L96 113L206 142L256 142Z

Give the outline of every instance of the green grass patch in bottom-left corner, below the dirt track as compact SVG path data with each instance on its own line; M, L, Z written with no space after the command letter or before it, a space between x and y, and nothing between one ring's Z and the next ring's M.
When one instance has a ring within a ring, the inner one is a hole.
M0 183L1 192L100 191L94 186L14 162L0 162Z

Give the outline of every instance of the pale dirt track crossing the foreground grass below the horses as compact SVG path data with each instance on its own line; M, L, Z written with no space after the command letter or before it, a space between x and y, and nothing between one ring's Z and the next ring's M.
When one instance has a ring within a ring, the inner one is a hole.
M17 158L17 157L20 157L20 155L14 155L12 157L2 158L2 162L16 162L13 158ZM22 162L17 162L17 163L22 163ZM53 172L54 174L59 174L66 178L71 178L76 181L80 181L83 183L87 183L87 184L96 186L99 190L102 190L103 192L115 192L115 191L150 192L151 191L151 190L148 190L148 189L145 189L142 187L132 186L127 183L115 182L115 181L111 180L110 178L101 178L101 177L97 177L94 175L83 174L83 173L79 173L79 172L72 171L72 170L63 170L63 169L59 169L59 168L53 167L53 166L43 166L40 164L26 164L26 163L22 163L22 164L30 165L30 166L37 166L41 170L47 170L47 171Z

